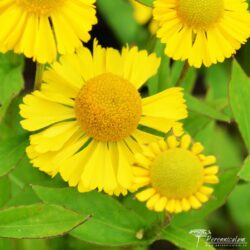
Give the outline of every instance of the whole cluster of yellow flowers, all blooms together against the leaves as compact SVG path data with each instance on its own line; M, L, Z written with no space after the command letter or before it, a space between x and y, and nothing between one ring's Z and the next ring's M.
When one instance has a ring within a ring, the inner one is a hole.
M197 68L223 62L250 36L245 0L155 0L152 9L130 3L139 23L157 23L167 56ZM142 97L140 88L160 66L155 54L136 46L119 52L97 40L92 51L83 46L97 23L95 0L2 0L0 23L0 52L50 63L41 88L20 105L34 167L60 174L80 192L138 191L157 212L208 201L218 166L183 133L183 89Z

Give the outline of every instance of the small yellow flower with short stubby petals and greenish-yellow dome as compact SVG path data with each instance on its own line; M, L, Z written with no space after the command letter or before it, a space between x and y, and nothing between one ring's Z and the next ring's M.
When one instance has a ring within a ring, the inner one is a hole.
M203 146L191 137L171 135L145 146L135 155L133 182L144 187L136 198L156 212L180 213L207 202L216 184L218 166L214 156L204 156Z

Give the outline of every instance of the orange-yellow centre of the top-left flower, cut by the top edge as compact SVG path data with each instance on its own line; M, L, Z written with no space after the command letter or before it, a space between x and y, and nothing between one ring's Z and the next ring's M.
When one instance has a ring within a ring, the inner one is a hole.
M37 15L49 15L65 2L65 0L16 0L26 11Z

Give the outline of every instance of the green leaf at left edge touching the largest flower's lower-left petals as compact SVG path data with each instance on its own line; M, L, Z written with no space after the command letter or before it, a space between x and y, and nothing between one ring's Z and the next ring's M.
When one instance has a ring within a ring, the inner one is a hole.
M26 136L13 137L0 142L0 177L15 168L24 156L27 145Z

